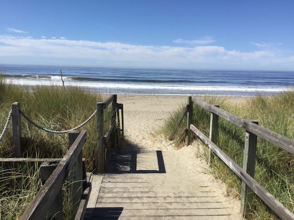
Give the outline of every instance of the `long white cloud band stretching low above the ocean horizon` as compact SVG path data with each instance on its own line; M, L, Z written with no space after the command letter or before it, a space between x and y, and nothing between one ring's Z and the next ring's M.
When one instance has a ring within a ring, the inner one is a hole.
M95 63L127 63L141 67L193 68L210 66L236 66L239 68L261 68L266 66L294 70L294 52L259 50L250 53L229 51L221 46L143 46L118 42L95 42L68 39L34 39L0 35L0 56L26 57L31 60L59 59L64 64L80 65ZM16 59L16 58L15 58ZM66 63L65 63L66 62ZM150 66L152 65L152 66ZM131 67L131 66L130 66Z

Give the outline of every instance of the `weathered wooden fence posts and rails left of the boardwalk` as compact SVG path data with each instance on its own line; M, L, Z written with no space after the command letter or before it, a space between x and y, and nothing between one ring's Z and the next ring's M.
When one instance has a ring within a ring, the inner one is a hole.
M104 110L112 104L111 123L106 134L104 132ZM119 115L121 111L121 118ZM123 135L123 105L117 103L117 95L112 95L105 102L97 103L97 156L96 169L103 172L106 161L106 144L111 142L111 147L118 145L119 133ZM120 129L121 124L121 129ZM19 220L63 219L62 185L68 181L68 196L71 209L76 220L82 219L91 191L90 183L86 182L86 166L82 158L82 148L86 141L86 131L70 131L68 133L69 150L62 159L30 159L20 158L21 146L21 107L20 103L12 104L12 134L14 156L17 158L0 159L6 167L16 164L40 165L42 188L37 193L29 207ZM111 137L115 137L115 140ZM83 198L82 198L83 197ZM82 199L81 199L82 198Z

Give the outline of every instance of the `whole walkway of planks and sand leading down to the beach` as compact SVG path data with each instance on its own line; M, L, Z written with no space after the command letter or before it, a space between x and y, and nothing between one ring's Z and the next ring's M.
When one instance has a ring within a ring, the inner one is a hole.
M174 150L156 135L187 97L118 96L118 102L130 151L117 151L107 173L93 175L86 220L241 219L240 201L226 196L195 156L197 143Z

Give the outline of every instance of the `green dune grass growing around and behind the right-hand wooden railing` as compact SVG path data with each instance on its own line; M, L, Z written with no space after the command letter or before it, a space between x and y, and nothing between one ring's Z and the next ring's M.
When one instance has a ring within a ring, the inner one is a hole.
M210 104L249 120L259 121L259 125L278 134L294 139L294 91L283 92L277 96L256 96L247 103L237 105L225 98L200 97ZM174 113L162 128L169 137L184 107ZM210 112L194 105L193 124L209 137ZM175 138L179 138L186 128L186 120L180 125ZM239 166L243 164L245 131L242 128L219 118L219 137L217 145ZM196 137L195 137L196 138ZM183 145L183 143L181 143ZM206 148L207 149L207 148ZM203 155L206 160L207 152ZM207 161L208 162L208 161ZM220 159L214 158L212 173L227 184L227 192L240 198L241 181ZM221 171L220 171L221 170ZM258 138L255 179L265 189L294 212L294 156L281 148ZM253 219L277 219L271 210L255 196L253 201Z

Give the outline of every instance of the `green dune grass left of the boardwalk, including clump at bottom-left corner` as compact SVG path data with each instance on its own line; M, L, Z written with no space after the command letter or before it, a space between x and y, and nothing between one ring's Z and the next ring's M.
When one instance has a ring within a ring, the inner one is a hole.
M53 131L75 128L96 110L96 103L108 97L79 87L17 86L0 76L0 128L4 128L11 104L19 102L21 110L36 124ZM105 130L111 120L111 106L105 110ZM23 157L62 158L67 151L67 134L42 131L21 117ZM95 168L97 152L97 119L94 116L78 130L87 130L83 148L88 171ZM106 132L106 131L105 131ZM0 141L0 158L13 155L11 122ZM0 170L0 219L17 219L40 187L39 169L29 167ZM8 187L9 186L9 187ZM5 193L4 193L5 192ZM8 211L9 210L9 211ZM65 210L65 213L68 212Z

